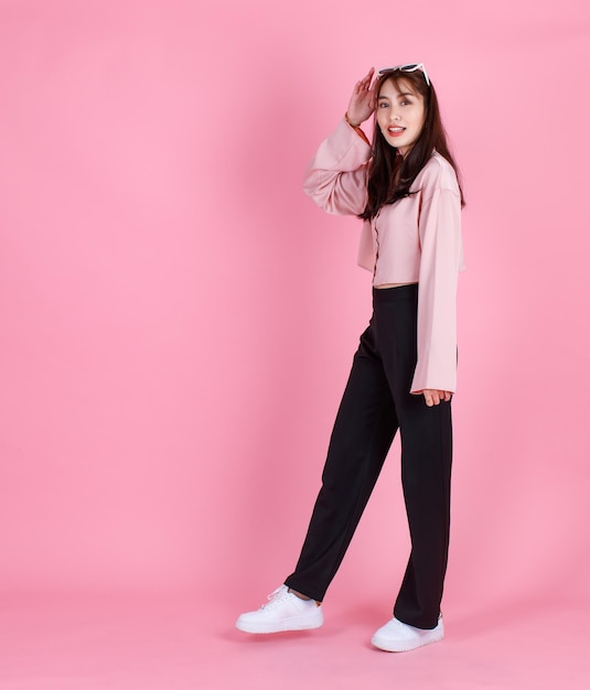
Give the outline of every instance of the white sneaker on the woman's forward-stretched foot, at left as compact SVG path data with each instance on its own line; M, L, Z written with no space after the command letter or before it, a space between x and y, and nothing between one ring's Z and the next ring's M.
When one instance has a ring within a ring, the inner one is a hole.
M258 611L243 613L236 627L243 633L283 633L286 630L311 630L320 627L324 619L321 606L304 600L282 584L268 596L269 603Z

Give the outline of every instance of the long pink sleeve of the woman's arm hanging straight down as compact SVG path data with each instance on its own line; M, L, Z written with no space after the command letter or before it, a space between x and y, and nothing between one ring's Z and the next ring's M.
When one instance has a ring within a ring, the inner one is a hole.
M411 392L457 389L457 283L462 268L461 198L437 186L422 198L418 362Z

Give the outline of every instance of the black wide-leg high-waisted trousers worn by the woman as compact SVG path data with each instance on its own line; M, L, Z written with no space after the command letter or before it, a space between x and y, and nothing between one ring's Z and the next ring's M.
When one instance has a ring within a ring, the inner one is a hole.
M399 429L411 552L394 615L433 628L449 551L451 403L428 407L422 395L409 392L417 305L417 284L373 290L373 317L354 356L322 487L296 571L285 583L317 601L324 599Z

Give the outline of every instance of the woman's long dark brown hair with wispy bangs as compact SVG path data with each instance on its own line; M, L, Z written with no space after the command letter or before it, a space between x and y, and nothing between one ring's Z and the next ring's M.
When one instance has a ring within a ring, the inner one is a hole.
M394 72L379 77L375 94L378 96L382 86L390 79L397 86L399 82L406 82L415 94L420 94L425 104L425 123L422 131L404 158L397 153L397 149L387 143L377 123L375 111L375 131L373 134L373 158L367 173L367 203L360 218L374 218L382 206L393 204L405 196L412 194L410 186L418 173L432 157L432 150L437 150L452 165L459 181L461 192L461 206L465 205L463 190L461 187L460 173L457 163L451 155L447 142L447 133L440 119L439 101L432 84L426 83L422 72Z

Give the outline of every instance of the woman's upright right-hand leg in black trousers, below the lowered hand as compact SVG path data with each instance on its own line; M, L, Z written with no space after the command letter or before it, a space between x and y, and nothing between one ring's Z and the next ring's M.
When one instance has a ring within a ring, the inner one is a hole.
M428 407L422 395L409 392L416 366L417 302L386 302L387 295L377 299L383 303L375 305L375 331L399 421L401 482L411 538L394 615L415 627L433 628L440 614L449 550L451 403Z

